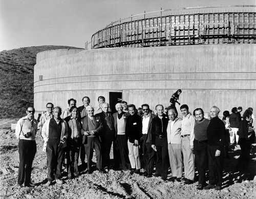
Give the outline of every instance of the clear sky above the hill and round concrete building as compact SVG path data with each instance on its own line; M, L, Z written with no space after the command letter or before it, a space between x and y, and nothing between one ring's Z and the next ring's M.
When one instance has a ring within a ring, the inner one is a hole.
M0 0L0 51L31 46L84 48L112 21L198 6L255 5L255 0Z

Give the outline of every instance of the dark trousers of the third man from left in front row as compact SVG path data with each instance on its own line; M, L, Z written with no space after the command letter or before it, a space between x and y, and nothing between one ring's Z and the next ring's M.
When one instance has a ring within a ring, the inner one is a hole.
M78 171L78 159L79 159L79 152L80 152L81 140L74 139L67 141L67 153L68 157L68 176L71 177L73 175L79 175Z

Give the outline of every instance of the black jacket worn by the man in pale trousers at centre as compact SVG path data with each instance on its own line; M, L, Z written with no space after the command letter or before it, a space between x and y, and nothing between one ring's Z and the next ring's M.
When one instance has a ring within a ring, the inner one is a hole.
M138 114L129 116L126 120L125 125L125 136L126 139L129 139L131 143L134 143L135 140L140 141L142 134L142 121L141 117Z

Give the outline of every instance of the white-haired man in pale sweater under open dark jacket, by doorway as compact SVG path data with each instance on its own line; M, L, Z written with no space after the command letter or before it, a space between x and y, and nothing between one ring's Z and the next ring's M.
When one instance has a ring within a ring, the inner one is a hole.
M114 117L114 125L116 129L116 149L120 154L122 168L124 170L128 169L128 165L130 163L128 157L128 146L127 141L125 139L125 124L128 114L123 112L123 106L121 103L116 104L117 113L113 114Z

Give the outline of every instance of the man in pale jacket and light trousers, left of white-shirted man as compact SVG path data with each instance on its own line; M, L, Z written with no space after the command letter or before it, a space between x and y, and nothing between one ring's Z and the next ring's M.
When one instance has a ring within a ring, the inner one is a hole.
M182 145L181 145L181 120L177 118L174 107L168 107L167 142L172 178L170 181L181 182L182 177Z

